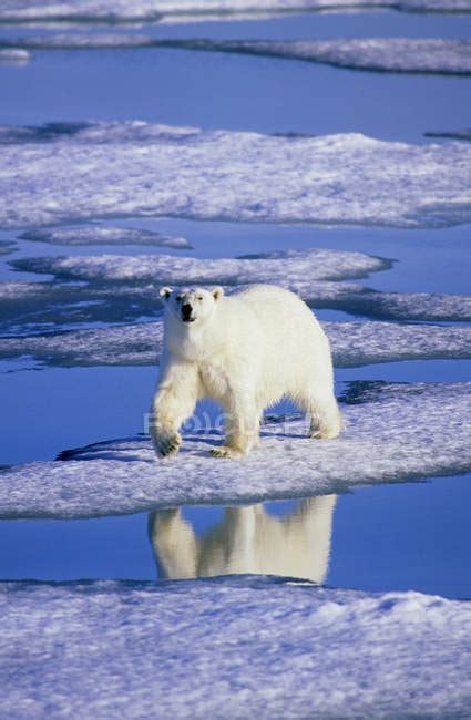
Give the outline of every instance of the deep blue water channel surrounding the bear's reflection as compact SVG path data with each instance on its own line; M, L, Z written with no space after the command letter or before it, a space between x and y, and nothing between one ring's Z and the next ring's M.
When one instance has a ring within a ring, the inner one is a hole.
M325 583L471 598L470 502L471 475L364 487L338 496ZM296 518L299 502L265 503L265 508L283 523ZM183 517L204 538L224 523L224 508L185 506ZM3 521L0 579L153 580L160 573L147 522L145 514ZM310 553L317 549L313 546ZM289 568L289 547L284 563ZM295 567L294 558L293 576Z

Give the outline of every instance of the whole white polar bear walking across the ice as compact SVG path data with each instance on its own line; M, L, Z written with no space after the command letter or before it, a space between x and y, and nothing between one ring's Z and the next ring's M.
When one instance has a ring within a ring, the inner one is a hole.
M150 420L157 455L178 450L178 430L203 398L225 412L226 442L212 451L216 457L257 444L265 408L284 397L308 414L311 438L337 438L329 341L298 296L272 285L231 296L221 287L160 294L164 347Z

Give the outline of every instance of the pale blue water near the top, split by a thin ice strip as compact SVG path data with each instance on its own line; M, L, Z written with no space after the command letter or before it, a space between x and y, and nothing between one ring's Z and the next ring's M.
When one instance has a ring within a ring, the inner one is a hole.
M137 32L214 39L462 39L471 37L471 18L313 14L154 25ZM0 38L24 34L38 31L0 29ZM139 119L264 133L361 132L418 143L426 142L427 131L468 127L471 103L469 78L400 76L160 49L35 51L25 65L0 64L0 122L8 125Z

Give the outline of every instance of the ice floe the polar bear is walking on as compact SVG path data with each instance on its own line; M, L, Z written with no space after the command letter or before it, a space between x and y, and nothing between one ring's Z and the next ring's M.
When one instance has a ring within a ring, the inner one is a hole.
M155 459L147 436L98 443L0 472L1 517L88 517L181 504L331 494L351 485L471 469L471 383L352 383L338 440L306 436L303 419L267 419L243 460L209 450L221 428L196 416L178 454Z

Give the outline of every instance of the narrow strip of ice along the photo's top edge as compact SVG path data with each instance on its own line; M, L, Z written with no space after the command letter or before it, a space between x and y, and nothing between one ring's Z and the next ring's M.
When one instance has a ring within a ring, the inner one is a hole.
M236 20L293 12L342 10L470 12L469 0L3 0L0 22L116 23Z

